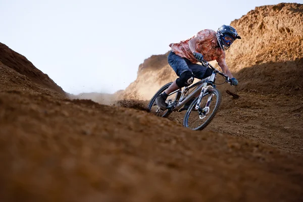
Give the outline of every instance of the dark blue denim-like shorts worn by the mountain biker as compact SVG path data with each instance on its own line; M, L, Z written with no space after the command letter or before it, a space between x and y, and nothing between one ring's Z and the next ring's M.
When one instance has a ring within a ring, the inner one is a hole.
M194 64L186 58L181 58L174 52L169 53L167 60L168 64L176 72L177 76L180 76L185 71L191 71L194 78L204 79L213 73L212 69L199 64Z

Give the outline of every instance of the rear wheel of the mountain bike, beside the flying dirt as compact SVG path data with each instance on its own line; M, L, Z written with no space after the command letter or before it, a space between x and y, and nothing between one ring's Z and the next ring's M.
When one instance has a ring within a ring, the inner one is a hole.
M155 95L150 99L149 103L148 103L148 110L159 116L159 117L168 117L172 111L171 110L161 110L160 107L157 106L156 104L156 98L163 93L173 82L167 83L164 86L162 86L156 93ZM170 94L167 99L166 99L166 104L167 105L171 105L175 102L176 99L176 93Z

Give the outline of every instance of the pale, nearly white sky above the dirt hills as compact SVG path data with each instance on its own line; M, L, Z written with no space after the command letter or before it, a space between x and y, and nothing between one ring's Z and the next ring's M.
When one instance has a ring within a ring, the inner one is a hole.
M136 79L144 59L169 51L171 42L280 2L0 0L0 42L66 92L113 93Z

